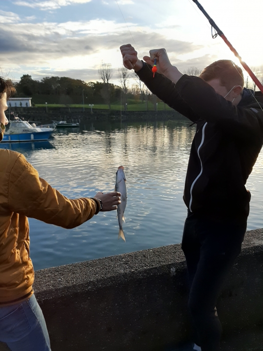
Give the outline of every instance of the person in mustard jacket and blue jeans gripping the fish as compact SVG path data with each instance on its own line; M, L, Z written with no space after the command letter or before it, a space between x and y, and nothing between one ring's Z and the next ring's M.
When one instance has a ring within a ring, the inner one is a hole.
M7 100L15 92L0 77L0 141L8 120ZM99 211L112 211L121 194L98 193L70 200L53 189L21 153L0 149L0 341L12 351L50 351L42 310L33 292L28 217L75 228Z

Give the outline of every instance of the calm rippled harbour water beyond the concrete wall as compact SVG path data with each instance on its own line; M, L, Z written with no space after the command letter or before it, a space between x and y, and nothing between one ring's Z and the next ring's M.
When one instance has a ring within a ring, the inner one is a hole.
M186 207L183 187L195 127L187 121L89 123L59 130L50 142L1 143L25 154L40 177L69 198L114 190L124 165L128 202L126 243L118 240L116 211L100 213L67 230L30 219L31 258L47 268L181 242ZM122 152L121 152L122 139ZM248 229L263 227L263 153L247 182L252 200Z

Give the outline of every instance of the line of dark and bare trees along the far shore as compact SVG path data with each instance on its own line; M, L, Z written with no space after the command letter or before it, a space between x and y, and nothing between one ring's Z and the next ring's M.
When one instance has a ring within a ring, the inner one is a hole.
M260 70L252 68L256 76ZM199 76L201 70L197 67L190 67L184 71L185 74ZM136 102L148 101L153 103L160 100L148 91L138 76L125 67L117 72L119 85L113 84L114 71L111 64L102 62L98 69L98 78L101 82L85 82L80 79L69 77L44 77L41 80L32 79L31 75L25 74L16 83L19 97L33 97L35 104L56 103L56 104L101 104L105 103L111 109L112 104L122 104L124 109L130 99ZM262 76L261 78L263 82ZM245 78L245 87L255 90L255 85ZM48 101L47 101L48 100Z

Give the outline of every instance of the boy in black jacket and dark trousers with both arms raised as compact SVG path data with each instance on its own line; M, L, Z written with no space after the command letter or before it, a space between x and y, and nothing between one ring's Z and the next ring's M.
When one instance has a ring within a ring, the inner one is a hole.
M188 209L182 250L189 274L189 309L195 350L219 351L221 324L216 300L241 251L249 213L245 188L263 143L263 110L242 70L230 60L206 67L199 77L172 66L165 49L138 60L121 46L123 64L134 69L150 91L196 123L183 199ZM158 73L151 68L157 61Z

